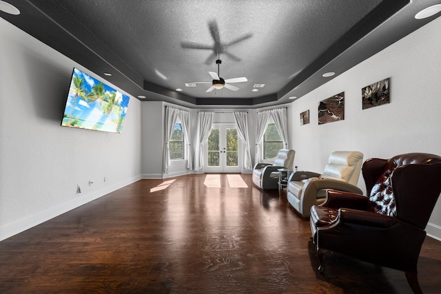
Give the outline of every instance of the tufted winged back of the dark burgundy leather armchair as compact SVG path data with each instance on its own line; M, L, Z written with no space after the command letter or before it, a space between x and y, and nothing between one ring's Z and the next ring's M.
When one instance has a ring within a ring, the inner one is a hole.
M432 185L424 185L427 182L424 165L433 164L441 164L441 157L433 154L411 153L394 156L388 160L378 158L366 160L362 171L366 187L368 191L370 189L369 200L375 211L406 220L424 229L438 199L438 195L435 195L433 199L429 196L435 194L427 191ZM398 181L401 184L407 182L415 183L415 185L403 187L403 185L396 184ZM424 213L427 209L430 211Z

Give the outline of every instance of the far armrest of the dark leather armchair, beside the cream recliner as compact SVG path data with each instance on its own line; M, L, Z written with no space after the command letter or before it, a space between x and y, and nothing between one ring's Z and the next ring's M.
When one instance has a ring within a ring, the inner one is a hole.
M369 204L369 197L367 196L345 191L327 190L326 200L320 204L320 206L334 209L345 207L349 209L368 211L370 206Z

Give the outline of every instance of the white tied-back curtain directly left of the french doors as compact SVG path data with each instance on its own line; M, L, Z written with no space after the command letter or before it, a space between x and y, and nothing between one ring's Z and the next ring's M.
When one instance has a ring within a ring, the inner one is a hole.
M214 112L199 112L198 113L198 134L197 146L194 154L194 169L199 171L204 166L204 152L203 143L208 139L212 132Z

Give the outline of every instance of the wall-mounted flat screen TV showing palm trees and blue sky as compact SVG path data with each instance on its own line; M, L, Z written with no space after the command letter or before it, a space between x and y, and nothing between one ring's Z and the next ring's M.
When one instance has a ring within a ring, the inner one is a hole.
M129 98L74 68L61 125L121 133Z

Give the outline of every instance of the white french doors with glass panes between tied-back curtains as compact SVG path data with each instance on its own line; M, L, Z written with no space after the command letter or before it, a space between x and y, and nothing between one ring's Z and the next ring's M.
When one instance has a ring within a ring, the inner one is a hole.
M239 145L235 124L213 124L205 148L205 172L240 173Z

